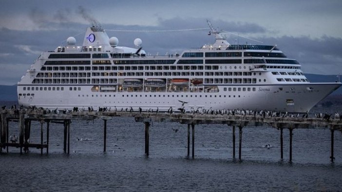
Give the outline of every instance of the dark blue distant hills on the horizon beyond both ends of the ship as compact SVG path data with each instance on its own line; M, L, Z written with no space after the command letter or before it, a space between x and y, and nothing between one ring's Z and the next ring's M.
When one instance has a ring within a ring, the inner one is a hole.
M312 82L335 82L338 81L336 75L318 75L305 74L307 79ZM342 77L341 77L342 80ZM342 95L342 87L334 91L331 95ZM0 101L17 101L17 85L1 86L0 85Z

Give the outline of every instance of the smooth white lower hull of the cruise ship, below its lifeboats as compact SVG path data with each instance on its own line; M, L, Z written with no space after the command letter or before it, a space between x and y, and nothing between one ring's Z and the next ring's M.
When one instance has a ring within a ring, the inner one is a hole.
M205 109L250 109L276 110L295 113L309 111L314 105L340 87L341 83L309 83L306 85L266 85L246 86L255 87L255 91L220 91L213 93L203 92L90 92L92 86L82 86L81 90L64 91L32 91L34 96L19 96L19 105L25 107L36 106L49 109L69 109L78 107L88 110L88 107L110 107L111 110L137 111L157 107L159 111L173 110L182 107L190 111L191 107ZM225 86L219 86L224 90ZM227 86L232 87L232 86ZM283 90L280 90L282 87ZM309 90L312 89L312 90ZM177 110L176 110L177 111Z

